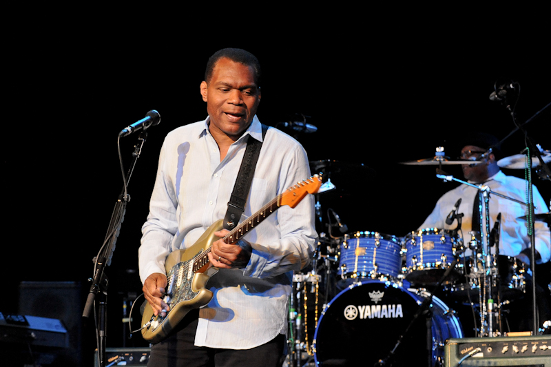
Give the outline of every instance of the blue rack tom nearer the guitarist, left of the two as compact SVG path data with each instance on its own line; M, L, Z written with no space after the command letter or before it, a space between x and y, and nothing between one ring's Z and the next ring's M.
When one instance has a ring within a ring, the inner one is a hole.
M340 244L339 275L343 278L395 279L402 266L402 245L397 237L379 232L344 235Z

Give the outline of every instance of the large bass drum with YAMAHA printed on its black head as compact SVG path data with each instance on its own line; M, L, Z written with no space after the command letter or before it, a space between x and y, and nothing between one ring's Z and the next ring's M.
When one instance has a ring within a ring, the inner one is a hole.
M386 359L429 296L376 279L346 288L326 306L315 330L317 366L374 366ZM444 366L446 339L461 338L463 331L459 319L437 297L428 309L404 336L389 366Z

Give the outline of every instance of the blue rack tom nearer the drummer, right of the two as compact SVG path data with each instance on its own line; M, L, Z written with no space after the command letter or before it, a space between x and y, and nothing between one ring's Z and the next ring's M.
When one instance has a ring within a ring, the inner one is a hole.
M437 284L450 267L459 246L461 242L451 230L425 228L409 233L404 237L406 279L417 286ZM456 269L442 284L452 284L459 279L460 272Z

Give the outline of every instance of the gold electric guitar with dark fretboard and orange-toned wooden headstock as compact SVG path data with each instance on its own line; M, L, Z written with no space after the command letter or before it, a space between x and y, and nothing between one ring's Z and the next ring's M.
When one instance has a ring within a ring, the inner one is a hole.
M313 175L310 179L291 186L251 215L247 221L233 228L223 240L226 244L235 244L280 206L295 208L307 194L318 192L321 185L321 175ZM220 239L214 232L222 228L220 219L210 226L193 246L173 251L167 256L165 270L168 284L163 300L170 306L170 310L165 317L160 314L155 316L153 308L145 302L141 333L149 343L154 344L165 339L190 310L205 306L212 299L213 293L206 289L205 285L218 270L210 264L208 253L212 244Z

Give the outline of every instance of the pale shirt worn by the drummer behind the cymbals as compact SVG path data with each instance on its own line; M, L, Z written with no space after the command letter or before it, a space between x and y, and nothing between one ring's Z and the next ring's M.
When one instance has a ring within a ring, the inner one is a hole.
M526 196L526 181L519 179L518 177L507 176L503 172L499 171L493 177L490 177L484 185L488 186L492 192L497 192L506 197L511 197L522 202L527 202ZM444 228L455 229L457 228L457 219L453 221L451 225L446 224L446 217L453 209L453 206L457 203L457 200L461 198L461 204L459 205L458 212L463 213L461 231L459 233L464 234L465 244L470 240L469 232L472 229L472 206L475 201L475 195L477 195L477 188L461 184L457 188L446 192L437 201L436 206L432 213L425 219L424 223L420 226L420 229L424 228ZM548 212L549 208L543 197L541 197L539 191L532 185L532 195L534 197L534 206L537 213ZM483 201L484 203L484 201ZM483 205L484 208L484 205ZM490 212L490 226L492 230L494 227L497 215L501 213L501 225L499 232L499 255L516 256L519 253L530 247L530 236L528 235L527 221L519 220L517 218L526 215L526 206L519 204L515 201L499 197L497 195L490 194L490 200L488 202L488 208ZM484 237L486 238L486 211L483 209L483 228ZM537 261L539 264L545 263L551 258L551 232L547 224L542 221L535 222L535 241L536 250L541 255L541 260ZM492 253L495 253L495 247L492 248ZM470 255L470 250L466 250L466 256Z

